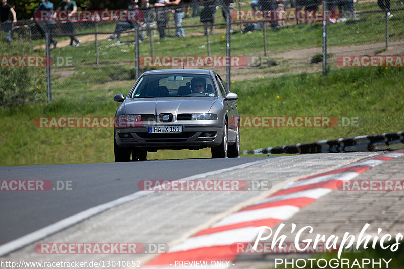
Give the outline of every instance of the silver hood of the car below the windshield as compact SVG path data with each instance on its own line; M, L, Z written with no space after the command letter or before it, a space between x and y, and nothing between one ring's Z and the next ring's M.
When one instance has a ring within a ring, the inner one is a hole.
M135 98L125 100L125 114L208 113L217 97Z

